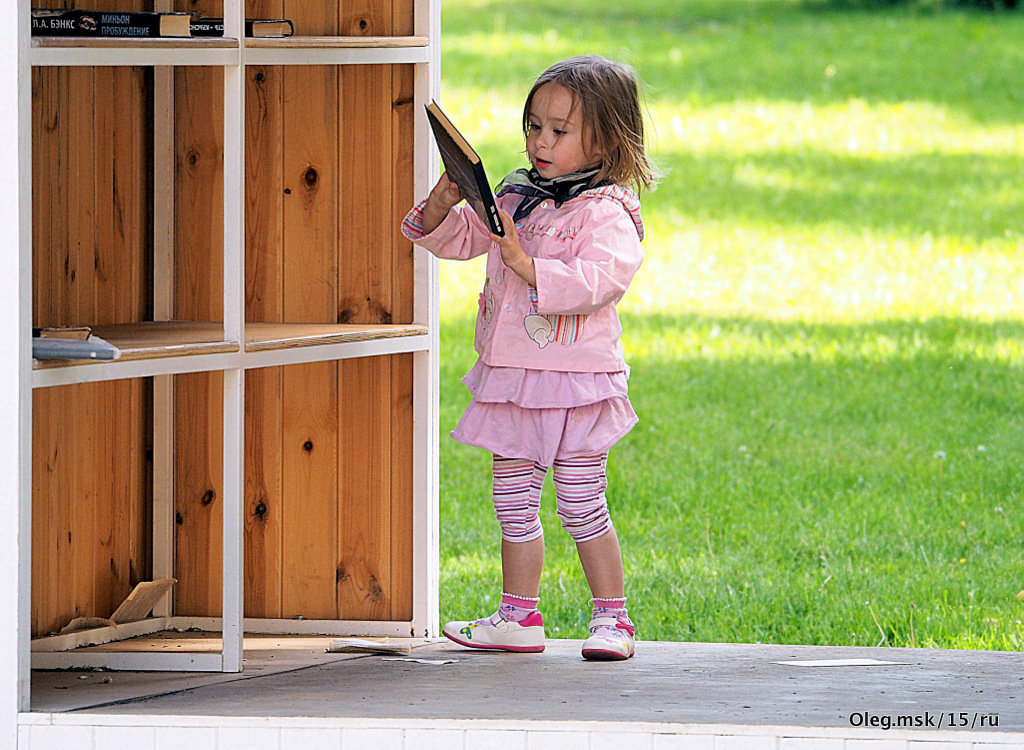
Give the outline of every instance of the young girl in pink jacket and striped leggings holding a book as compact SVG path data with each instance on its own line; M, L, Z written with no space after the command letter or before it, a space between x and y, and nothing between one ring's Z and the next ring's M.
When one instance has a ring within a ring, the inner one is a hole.
M440 258L487 254L479 359L463 379L473 398L452 435L494 454L502 597L489 617L450 622L443 632L476 649L544 651L539 510L550 467L558 516L593 595L583 656L628 659L634 626L604 491L608 451L637 422L615 312L643 259L630 186L656 179L633 71L597 56L559 62L534 84L522 125L532 168L498 191L504 238L457 205L445 175L402 223Z

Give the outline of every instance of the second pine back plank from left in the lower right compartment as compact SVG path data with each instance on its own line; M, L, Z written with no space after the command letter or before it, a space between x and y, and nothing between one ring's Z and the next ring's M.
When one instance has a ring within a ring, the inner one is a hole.
M286 618L336 616L337 365L284 369L284 575Z

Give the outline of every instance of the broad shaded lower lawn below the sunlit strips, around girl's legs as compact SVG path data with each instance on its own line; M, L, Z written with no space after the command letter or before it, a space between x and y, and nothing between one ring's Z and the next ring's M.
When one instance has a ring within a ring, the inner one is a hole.
M881 627L887 644L1020 648L1024 321L624 327L641 421L609 498L644 638L873 645ZM468 331L442 326L442 434ZM497 549L481 453L442 437L455 609ZM586 584L553 504L545 615L580 637Z

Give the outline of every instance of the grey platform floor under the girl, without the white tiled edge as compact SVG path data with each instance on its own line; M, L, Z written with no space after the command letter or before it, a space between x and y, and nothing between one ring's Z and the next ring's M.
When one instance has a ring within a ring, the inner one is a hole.
M442 665L310 654L309 661L283 669L253 663L248 674L217 675L216 681L179 676L164 695L91 706L79 700L68 710L82 719L96 713L668 722L844 727L854 735L943 730L976 733L973 738L992 733L993 739L1024 732L1024 658L1016 653L642 642L628 662L592 663L581 658L580 645L549 640L544 654L519 655L443 641L411 655L458 660ZM833 660L882 663L796 664ZM88 690L101 697L91 685L80 688L80 697Z

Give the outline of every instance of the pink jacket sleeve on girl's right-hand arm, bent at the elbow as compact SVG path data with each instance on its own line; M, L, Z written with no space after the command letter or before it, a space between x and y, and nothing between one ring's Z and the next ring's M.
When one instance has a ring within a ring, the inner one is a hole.
M643 261L636 226L622 206L590 209L569 260L532 258L541 315L588 315L617 302Z

